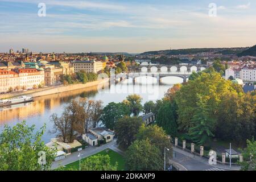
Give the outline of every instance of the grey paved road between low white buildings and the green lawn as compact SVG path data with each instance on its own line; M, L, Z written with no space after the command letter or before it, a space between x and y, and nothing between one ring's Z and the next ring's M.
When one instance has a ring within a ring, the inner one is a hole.
M88 148L85 148L82 151L73 152L72 154L68 155L67 158L53 162L51 169L56 169L58 167L65 166L67 164L76 162L77 160L79 160L79 157L78 157L79 153L81 153L83 155L82 158L86 158L88 156L97 154L98 152L103 151L106 148L110 148L113 151L118 152L119 154L123 155L123 151L121 151L117 148L117 145L115 145L115 140L113 140L112 142L106 143L100 147L89 146Z

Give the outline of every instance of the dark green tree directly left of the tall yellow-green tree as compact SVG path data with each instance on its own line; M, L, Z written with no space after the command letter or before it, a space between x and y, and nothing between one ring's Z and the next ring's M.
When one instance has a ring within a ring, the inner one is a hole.
M177 134L177 105L175 101L164 101L156 115L156 124L163 127L167 134L176 137Z

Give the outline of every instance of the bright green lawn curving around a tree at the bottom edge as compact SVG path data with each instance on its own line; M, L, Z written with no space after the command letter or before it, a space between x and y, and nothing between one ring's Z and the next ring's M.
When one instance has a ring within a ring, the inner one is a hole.
M106 152L106 150L108 150L108 152ZM117 152L114 152L113 150L108 148L108 149L105 149L105 150L103 150L101 152L98 152L97 154L94 154L94 155L99 155L99 154L100 155L109 155L110 163L112 165L114 165L115 162L118 162L118 171L123 171L125 169L125 159L123 159L123 156L118 154ZM94 156L94 155L91 155L91 156ZM90 158L91 156L88 156L88 158ZM84 159L81 159L81 163ZM77 170L79 170L79 160L77 160L76 162L67 164L65 166L65 169L77 169Z

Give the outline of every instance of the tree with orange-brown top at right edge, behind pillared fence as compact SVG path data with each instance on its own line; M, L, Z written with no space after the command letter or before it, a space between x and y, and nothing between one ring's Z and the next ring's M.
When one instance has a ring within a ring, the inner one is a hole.
M244 145L256 136L256 97L251 94L226 92L221 97L217 115L216 135L220 139L234 140Z

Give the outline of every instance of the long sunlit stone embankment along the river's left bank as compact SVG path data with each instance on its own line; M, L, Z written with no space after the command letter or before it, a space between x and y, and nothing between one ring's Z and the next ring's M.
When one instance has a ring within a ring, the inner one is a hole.
M72 84L72 85L67 85L67 86L64 86L64 85L49 86L46 88L28 90L25 92L13 92L13 93L1 94L0 99L18 97L18 96L27 96L27 95L29 95L31 97L47 96L47 95L51 95L51 94L63 93L63 92L68 92L68 91L72 91L72 90L89 88L91 86L102 85L102 84L105 84L106 82L109 82L109 78L105 78L103 80L87 82L86 84Z

